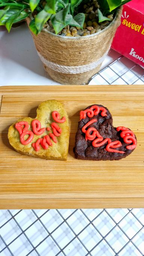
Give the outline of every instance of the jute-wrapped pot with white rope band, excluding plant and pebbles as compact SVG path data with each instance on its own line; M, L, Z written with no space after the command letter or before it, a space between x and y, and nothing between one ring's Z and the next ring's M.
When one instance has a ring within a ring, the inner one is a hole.
M115 31L120 25L120 8L108 27L101 32L82 37L55 35L43 29L33 33L37 53L50 77L62 84L87 84L101 68L108 54ZM27 24L30 18L27 18Z

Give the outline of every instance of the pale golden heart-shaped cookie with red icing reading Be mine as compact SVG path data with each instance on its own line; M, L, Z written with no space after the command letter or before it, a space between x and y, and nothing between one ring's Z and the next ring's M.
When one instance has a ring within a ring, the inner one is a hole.
M42 102L35 119L25 117L9 127L8 139L21 154L67 160L69 124L63 104L56 100Z

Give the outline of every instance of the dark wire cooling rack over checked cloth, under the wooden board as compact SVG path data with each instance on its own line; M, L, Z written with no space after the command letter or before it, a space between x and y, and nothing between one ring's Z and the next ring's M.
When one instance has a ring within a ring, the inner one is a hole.
M120 56L89 84L144 84L144 69ZM0 211L0 256L141 256L144 209Z

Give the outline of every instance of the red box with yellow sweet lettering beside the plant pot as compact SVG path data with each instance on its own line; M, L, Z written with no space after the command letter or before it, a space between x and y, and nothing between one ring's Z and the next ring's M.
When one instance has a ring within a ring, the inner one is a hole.
M144 0L132 0L123 6L121 25L111 48L144 67Z

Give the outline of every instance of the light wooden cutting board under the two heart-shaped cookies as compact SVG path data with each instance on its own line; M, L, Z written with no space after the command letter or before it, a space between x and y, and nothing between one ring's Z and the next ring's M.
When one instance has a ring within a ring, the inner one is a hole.
M5 86L0 99L0 209L144 207L144 86ZM21 155L7 139L8 127L21 117L35 117L47 99L62 101L68 112L66 162ZM136 134L138 146L129 157L74 158L79 112L91 104L108 107L115 127Z

